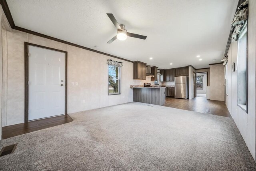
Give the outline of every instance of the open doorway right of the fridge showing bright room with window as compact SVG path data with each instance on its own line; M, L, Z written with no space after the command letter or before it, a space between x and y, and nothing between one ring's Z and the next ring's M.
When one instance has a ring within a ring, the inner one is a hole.
M206 97L206 88L208 85L208 73L200 72L196 73L196 96Z

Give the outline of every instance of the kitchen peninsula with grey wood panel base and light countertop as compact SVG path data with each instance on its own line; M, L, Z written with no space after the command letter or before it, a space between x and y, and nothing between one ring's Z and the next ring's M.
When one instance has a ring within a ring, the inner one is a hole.
M149 103L154 105L164 105L166 87L143 87L130 85L133 88L133 101Z

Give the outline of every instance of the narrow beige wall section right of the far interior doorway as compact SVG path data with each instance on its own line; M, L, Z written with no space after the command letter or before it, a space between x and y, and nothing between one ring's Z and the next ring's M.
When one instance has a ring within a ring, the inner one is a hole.
M224 101L224 66L222 64L211 65L211 100Z

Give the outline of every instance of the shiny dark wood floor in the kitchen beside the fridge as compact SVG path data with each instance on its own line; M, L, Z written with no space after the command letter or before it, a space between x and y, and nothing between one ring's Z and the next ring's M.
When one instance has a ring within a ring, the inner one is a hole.
M208 100L206 97L195 97L194 99L175 99L166 97L164 106L231 117L224 101Z

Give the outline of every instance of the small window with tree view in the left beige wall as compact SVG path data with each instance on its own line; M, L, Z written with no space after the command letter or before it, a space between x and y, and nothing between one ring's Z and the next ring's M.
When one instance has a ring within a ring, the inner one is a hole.
M108 95L121 94L121 67L108 65Z

